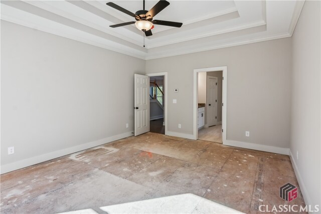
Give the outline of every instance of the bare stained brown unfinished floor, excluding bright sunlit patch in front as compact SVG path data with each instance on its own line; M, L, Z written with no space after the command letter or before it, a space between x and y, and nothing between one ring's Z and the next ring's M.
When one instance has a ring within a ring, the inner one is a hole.
M298 187L286 155L148 132L1 175L2 213L55 213L194 193L246 213Z

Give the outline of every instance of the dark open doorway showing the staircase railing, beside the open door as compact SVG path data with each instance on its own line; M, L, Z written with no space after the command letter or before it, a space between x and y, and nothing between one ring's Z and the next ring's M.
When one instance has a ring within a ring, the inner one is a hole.
M165 134L165 78L149 77L149 126L150 132Z

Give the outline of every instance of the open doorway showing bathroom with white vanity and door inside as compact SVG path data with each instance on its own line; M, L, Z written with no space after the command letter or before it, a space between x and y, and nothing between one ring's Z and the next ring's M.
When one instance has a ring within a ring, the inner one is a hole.
M198 72L198 139L223 143L223 71Z

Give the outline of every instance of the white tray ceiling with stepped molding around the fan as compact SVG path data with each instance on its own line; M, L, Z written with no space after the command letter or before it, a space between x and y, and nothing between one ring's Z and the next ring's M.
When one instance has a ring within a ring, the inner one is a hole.
M1 1L1 19L140 59L188 54L292 36L303 1L170 1L145 38L134 21L106 6L109 1ZM142 1L110 1L135 13ZM157 1L146 0L146 10Z

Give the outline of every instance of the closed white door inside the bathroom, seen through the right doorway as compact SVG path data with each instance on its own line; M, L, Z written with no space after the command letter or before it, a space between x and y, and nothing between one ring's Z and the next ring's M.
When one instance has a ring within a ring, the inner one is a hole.
M207 124L217 123L217 77L207 77Z

